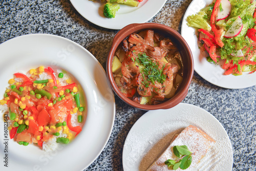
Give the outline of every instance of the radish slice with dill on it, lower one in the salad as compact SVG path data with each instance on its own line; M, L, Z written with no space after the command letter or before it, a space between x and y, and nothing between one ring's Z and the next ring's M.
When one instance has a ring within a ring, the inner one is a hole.
M231 38L236 37L240 34L243 29L243 22L240 16L237 17L236 20L231 24L230 28L224 34L224 37Z

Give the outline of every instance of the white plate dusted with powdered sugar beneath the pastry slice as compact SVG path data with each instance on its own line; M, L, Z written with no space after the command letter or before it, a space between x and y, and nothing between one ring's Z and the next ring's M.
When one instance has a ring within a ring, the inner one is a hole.
M198 106L180 103L168 110L149 111L137 120L124 142L124 171L146 170L167 148L173 136L190 124L216 143L197 168L186 170L232 170L232 146L221 123Z

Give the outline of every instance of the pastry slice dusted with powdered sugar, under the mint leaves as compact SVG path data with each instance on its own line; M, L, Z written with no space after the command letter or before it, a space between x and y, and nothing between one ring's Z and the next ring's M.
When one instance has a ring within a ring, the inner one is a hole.
M168 159L178 159L173 153L173 147L176 145L186 145L188 150L194 153L192 155L191 165L186 170L193 169L214 143L215 140L198 129L198 127L189 125L170 143L163 154L146 171L169 171L164 162ZM178 168L177 170L181 169Z

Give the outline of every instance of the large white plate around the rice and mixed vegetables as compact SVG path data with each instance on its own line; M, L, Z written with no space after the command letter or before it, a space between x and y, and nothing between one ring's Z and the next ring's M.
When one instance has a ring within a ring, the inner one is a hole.
M75 42L50 34L10 39L0 45L0 53L0 94L4 94L8 80L15 72L27 72L39 66L58 66L78 80L87 103L87 119L81 133L71 143L49 153L36 145L18 145L9 135L5 138L1 118L0 170L83 170L88 167L109 140L115 118L114 94L97 59ZM5 155L8 156L8 167L3 164Z

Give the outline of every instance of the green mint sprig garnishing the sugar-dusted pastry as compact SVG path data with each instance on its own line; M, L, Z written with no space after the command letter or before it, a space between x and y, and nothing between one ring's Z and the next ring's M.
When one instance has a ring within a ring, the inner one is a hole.
M177 156L178 160L168 159L164 162L169 168L173 168L177 170L178 168L187 169L191 162L193 153L189 152L186 145L176 145L173 147L173 151L175 156Z

